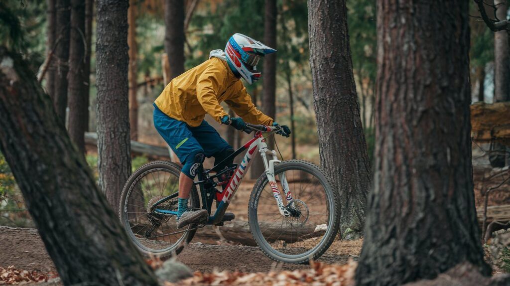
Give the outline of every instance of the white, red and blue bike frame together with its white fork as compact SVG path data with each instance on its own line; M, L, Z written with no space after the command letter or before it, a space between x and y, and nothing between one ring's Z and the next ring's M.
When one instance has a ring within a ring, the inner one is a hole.
M270 132L272 131L273 127L271 126L265 126L266 131ZM214 179L221 176L223 173L231 171L232 168L220 170L219 166L222 165L224 162L232 162L237 155L242 153L244 150L247 150L243 161L238 166L235 166L235 171L232 177L228 180L227 187L224 188L221 192L216 190L216 186L219 184L214 184ZM206 209L209 213L209 218L206 222L206 224L219 224L222 222L223 215L225 214L226 209L228 208L228 205L230 204L230 201L234 194L236 193L237 189L239 188L239 185L241 184L241 181L244 178L244 175L247 173L248 169L251 166L252 159L254 157L254 154L256 151L259 151L262 161L264 162L264 168L265 173L267 175L269 185L271 186L271 190L273 191L273 196L276 201L276 204L278 206L278 210L281 215L288 217L290 216L290 212L287 210L286 205L284 205L282 195L278 189L278 185L276 184L276 178L274 175L274 165L276 163L279 163L281 161L278 160L276 156L275 150L270 150L267 146L266 138L264 138L263 133L261 131L257 131L254 135L254 137L246 142L243 146L241 146L239 149L237 149L234 153L232 153L230 156L225 158L220 163L216 164L213 168L209 170L204 170L202 167L198 170L198 181L195 181L195 186L198 185L200 189L200 194L202 198L202 209ZM279 179L282 184L282 189L284 191L287 204L293 200L292 194L289 188L289 184L287 183L287 178L285 176L285 173L279 175ZM206 184L209 184L209 188L206 188ZM219 193L219 196L217 195L216 199L219 200L221 198L221 201L219 202L216 212L211 215L211 205L214 201L214 193L208 192L208 190L214 190L215 193ZM168 215L177 215L177 212L175 211L169 211L164 209L158 209L157 205L173 199L179 195L178 192L171 194L158 202L154 204L156 207L155 211L158 213L168 214ZM291 202L292 203L292 202Z

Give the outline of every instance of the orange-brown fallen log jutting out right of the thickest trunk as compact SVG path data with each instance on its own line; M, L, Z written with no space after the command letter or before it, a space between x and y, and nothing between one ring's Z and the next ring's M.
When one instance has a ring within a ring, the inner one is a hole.
M471 105L471 136L478 142L510 145L510 102Z

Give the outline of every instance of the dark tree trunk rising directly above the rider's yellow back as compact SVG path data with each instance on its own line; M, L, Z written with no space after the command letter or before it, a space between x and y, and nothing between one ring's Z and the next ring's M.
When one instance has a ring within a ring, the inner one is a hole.
M165 0L165 53L170 81L184 72L184 0Z

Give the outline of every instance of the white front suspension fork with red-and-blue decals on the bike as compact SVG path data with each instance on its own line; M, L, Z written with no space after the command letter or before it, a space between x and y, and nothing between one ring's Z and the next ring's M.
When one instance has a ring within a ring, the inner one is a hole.
M278 189L278 185L276 184L276 178L274 175L274 164L280 163L282 161L279 161L276 157L276 151L269 150L267 148L267 144L265 142L261 142L263 146L259 149L259 152L262 156L262 161L264 162L265 167L265 173L267 176L267 179L269 181L269 186L271 186L271 191L273 192L274 199L276 200L276 205L278 206L278 211L282 216L289 217L291 214L287 207L284 205L282 195L280 194L280 191ZM268 155L272 156L272 160L267 160ZM285 194L285 198L287 200L287 204L293 200L292 194L290 192L289 184L287 183L287 178L285 176L285 173L279 175L280 181L282 183L282 188ZM292 202L291 202L292 203Z

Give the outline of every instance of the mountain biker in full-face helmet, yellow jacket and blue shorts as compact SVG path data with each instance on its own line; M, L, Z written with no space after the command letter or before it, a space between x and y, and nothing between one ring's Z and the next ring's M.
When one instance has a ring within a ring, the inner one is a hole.
M214 120L242 131L246 122L275 125L259 111L240 81L252 84L259 80L259 60L276 50L242 34L233 35L225 50L212 50L209 60L175 77L154 102L154 125L183 164L179 177L179 204L176 224L181 228L207 217L205 209L188 210L193 179L205 157L214 157L215 165L234 152L207 121ZM239 117L230 117L220 106L225 101ZM282 125L284 136L291 131ZM226 162L228 166L232 162ZM222 164L223 165L223 164Z

